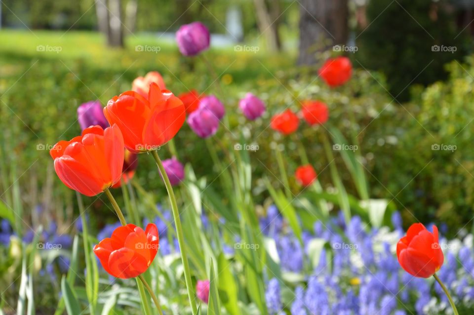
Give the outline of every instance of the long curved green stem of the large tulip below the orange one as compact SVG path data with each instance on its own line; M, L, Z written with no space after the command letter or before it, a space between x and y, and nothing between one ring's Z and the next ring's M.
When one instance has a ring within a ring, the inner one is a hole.
M157 151L152 151L152 155L155 158L155 161L158 165L158 170L163 178L164 185L166 186L166 190L168 191L169 202L171 203L171 210L173 212L174 223L176 226L176 234L178 236L178 244L179 250L181 252L181 261L183 262L183 269L184 269L184 278L186 280L186 289L188 290L188 298L191 304L191 309L193 314L197 314L197 307L195 303L194 297L194 289L193 289L193 281L191 280L191 272L189 269L189 261L188 256L186 255L186 247L184 243L184 234L183 234L183 227L181 226L181 219L179 218L179 211L178 211L178 204L176 202L176 197L174 197L173 188L171 187L171 183L169 182L168 175L163 167L163 163L158 156Z

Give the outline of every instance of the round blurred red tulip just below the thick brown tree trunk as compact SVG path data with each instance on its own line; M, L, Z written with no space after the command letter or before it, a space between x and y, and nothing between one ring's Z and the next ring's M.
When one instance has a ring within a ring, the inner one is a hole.
M319 69L319 76L330 86L346 83L352 75L351 60L347 57L328 59Z

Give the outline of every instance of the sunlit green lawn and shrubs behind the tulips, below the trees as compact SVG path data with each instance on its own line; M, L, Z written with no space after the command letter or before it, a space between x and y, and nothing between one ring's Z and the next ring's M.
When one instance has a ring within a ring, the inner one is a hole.
M73 196L54 175L48 152L37 149L48 148L79 133L76 109L81 103L99 99L105 105L114 95L129 89L137 76L158 70L167 87L176 94L196 88L222 98L235 143L243 134L246 144L259 146L257 152L250 154L257 203L268 197L260 178L266 175L274 186L281 185L274 154L276 145L281 144L285 146L285 163L295 194L300 189L292 176L301 164L299 142L306 148L323 187L332 189L328 161L322 149L324 127L315 129L302 121L299 131L286 138L269 128L272 115L288 106L297 112L299 101L311 98L328 104L329 125L339 128L347 139L353 133L358 135L358 150L367 171L370 196L394 201L404 213L406 224L442 220L451 227L462 227L472 218L474 163L469 146L474 126L471 122L474 113L470 112L474 98L469 97L474 93L470 75L474 73L472 59L467 66L453 62L448 67L447 82L437 82L426 90L419 87L419 96L412 103L400 106L387 94L384 76L376 72L356 70L347 85L330 89L317 78L316 69L295 68L294 56L288 54L212 49L205 57L213 61L214 70L220 75L219 88L202 59L184 59L175 46L156 42L154 37L129 37L127 48L115 50L104 49L102 37L94 33L69 32L63 38L62 33L35 32L35 35L38 38L29 32L0 34L0 40L5 43L0 48L0 122L7 126L3 128L2 139L9 152L4 158L6 163L17 165L22 194L29 196L25 201L32 208L44 202L35 189L52 190L54 194L47 196L54 196L50 204L59 213L66 211L61 210L63 207L71 211L71 201L64 205L65 201L59 200L71 200ZM159 45L161 50L158 54L136 52L136 44ZM62 50L38 52L37 45L60 45ZM267 103L268 110L262 119L249 122L241 115L237 104L246 92L255 93ZM356 124L352 123L352 115ZM221 125L217 136L210 139L217 148L234 147L233 140L223 142L228 137L220 134L225 132L228 131ZM215 180L219 174L212 172L205 141L185 124L175 143L179 158L191 163L197 177L207 177L211 187L219 191L220 181ZM434 144L455 145L457 150L433 151ZM224 158L223 153L219 154ZM160 155L168 158L168 148L162 148ZM351 175L337 152L335 158L348 193L357 196ZM154 170L150 157L139 157L136 178L158 196L164 196L164 187ZM36 180L38 183L33 185L32 181ZM95 200L92 206L94 211L104 213L94 219L99 222L93 222L93 226L100 228L105 222L115 220L112 212L102 206L101 199Z

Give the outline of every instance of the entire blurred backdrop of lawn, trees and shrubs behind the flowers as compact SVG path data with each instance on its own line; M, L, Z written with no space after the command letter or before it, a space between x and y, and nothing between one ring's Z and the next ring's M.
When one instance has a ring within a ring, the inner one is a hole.
M211 48L186 58L175 32L193 21L209 28ZM80 132L80 104L105 105L136 77L158 71L175 94L225 90L230 126L259 146L256 204L270 197L261 178L278 174L276 141L287 148L288 169L299 165L296 143L303 143L323 170L321 185L333 188L320 134L302 124L283 139L268 128L273 114L319 99L346 138L358 135L370 197L390 200L405 228L419 220L465 235L474 228L473 36L470 0L0 0L0 214L21 209L25 229L54 221L61 233L74 230L76 197L56 177L49 149ZM339 55L351 59L354 74L335 90L317 70ZM247 92L267 104L253 123L238 111ZM222 145L232 146L226 139ZM218 192L206 143L187 124L175 143L197 177L212 174L209 190ZM343 158L335 158L357 196ZM160 200L166 192L155 167L140 156L135 179ZM281 187L278 176L270 180ZM290 189L298 190L293 178ZM91 208L93 231L117 221L102 199Z

